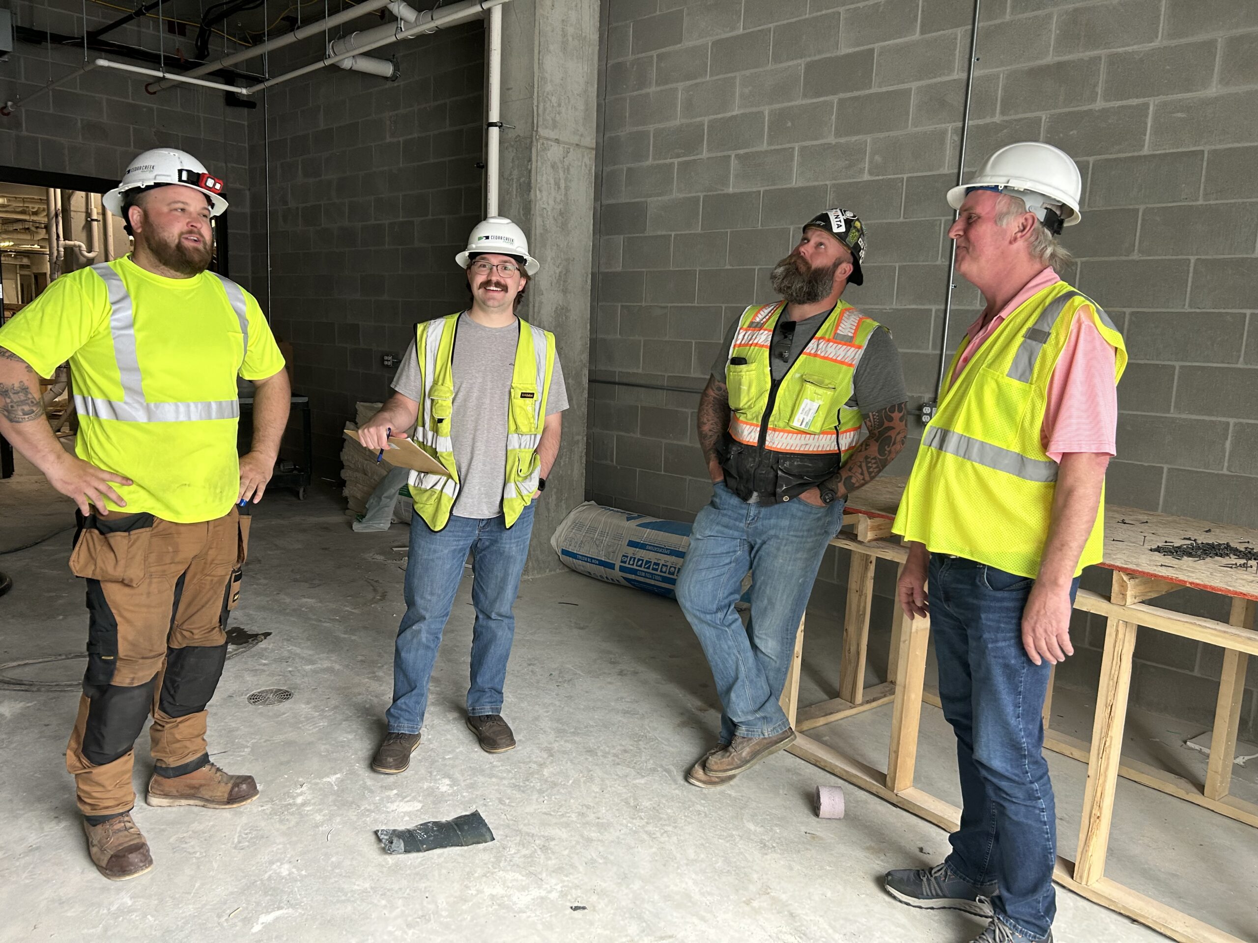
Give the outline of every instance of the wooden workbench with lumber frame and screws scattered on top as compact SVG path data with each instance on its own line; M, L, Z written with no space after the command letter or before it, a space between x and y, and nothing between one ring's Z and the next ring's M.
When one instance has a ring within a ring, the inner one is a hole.
M804 645L801 620L795 640L795 656L782 692L782 707L800 733L790 747L791 753L952 831L960 821L960 810L913 787L922 703L938 707L937 695L927 693L925 687L930 637L927 619L908 619L896 606L887 680L864 687L874 561L893 560L902 566L907 557L907 549L897 538L887 539L903 488L903 478L879 478L862 488L853 495L844 513L844 524L850 526L852 532L844 531L830 542L852 552L839 697L819 704L799 705ZM1167 541L1186 544L1191 539L1258 548L1258 531L1135 508L1106 509L1105 560L1101 566L1113 571L1110 597L1079 590L1074 604L1078 610L1107 619L1092 742L1084 743L1048 729L1052 684L1044 705L1044 746L1088 764L1076 860L1059 856L1054 879L1089 900L1140 920L1172 939L1184 943L1242 943L1237 937L1105 876L1120 776L1258 827L1258 806L1229 795L1245 668L1249 655L1258 655L1258 632L1252 629L1258 605L1258 565L1240 568L1235 566L1240 562L1237 560L1174 560L1152 551ZM1184 587L1229 597L1229 620L1222 622L1189 616L1146 604L1146 600ZM1144 763L1125 762L1120 756L1137 626L1205 641L1224 650L1210 761L1204 783L1195 783ZM876 769L803 736L806 731L884 704L893 705L886 771Z

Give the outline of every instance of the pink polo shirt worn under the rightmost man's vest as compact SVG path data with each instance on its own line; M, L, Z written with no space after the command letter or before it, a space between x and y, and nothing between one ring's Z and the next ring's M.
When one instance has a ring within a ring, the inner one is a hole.
M965 332L965 351L956 363L954 381L984 341L991 337L1019 304L1060 280L1052 268L1045 268L986 324L980 314ZM1074 314L1071 336L1053 368L1053 377L1048 381L1040 443L1053 461L1060 461L1062 455L1068 451L1116 454L1118 386L1113 381L1115 351L1091 318L1082 317L1082 311L1083 308Z

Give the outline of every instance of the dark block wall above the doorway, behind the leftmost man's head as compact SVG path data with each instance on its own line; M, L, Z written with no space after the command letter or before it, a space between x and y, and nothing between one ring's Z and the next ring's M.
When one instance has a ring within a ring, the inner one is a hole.
M16 26L82 36L118 19L120 11L79 0L14 0L8 4ZM107 36L172 59L191 49L191 36L167 35L155 19L140 20ZM214 49L223 55L221 39ZM235 47L233 45L233 49ZM117 55L89 52L89 58ZM60 78L83 64L83 48L20 41L0 62L0 101L14 101L36 91L49 78ZM231 204L228 269L231 278L257 292L249 269L248 112L229 108L220 92L177 88L151 96L141 75L94 69L31 98L8 117L0 117L0 166L74 174L117 181L127 163L151 147L177 147L195 155L226 184ZM118 246L122 251L123 246Z

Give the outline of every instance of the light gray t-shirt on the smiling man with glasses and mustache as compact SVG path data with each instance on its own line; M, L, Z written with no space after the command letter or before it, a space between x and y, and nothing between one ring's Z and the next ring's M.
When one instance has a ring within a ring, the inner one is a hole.
M507 482L507 404L518 339L518 321L508 327L484 327L467 312L459 318L450 407L454 466L459 472L459 497L452 512L457 517L487 518L502 513L502 489ZM415 401L424 397L414 338L392 389ZM546 415L566 409L567 390L556 356Z

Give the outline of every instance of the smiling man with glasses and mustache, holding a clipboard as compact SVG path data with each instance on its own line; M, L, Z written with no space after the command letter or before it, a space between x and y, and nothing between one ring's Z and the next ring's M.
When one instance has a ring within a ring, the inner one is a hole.
M491 216L455 256L472 307L415 327L394 395L359 430L369 449L418 421L415 441L449 477L411 473L415 517L406 565L406 614L394 651L389 731L371 761L400 773L419 746L428 683L463 565L472 554L472 685L467 725L482 749L516 746L502 719L515 635L512 606L528 556L532 502L546 488L567 409L555 336L516 317L538 263L520 226Z

